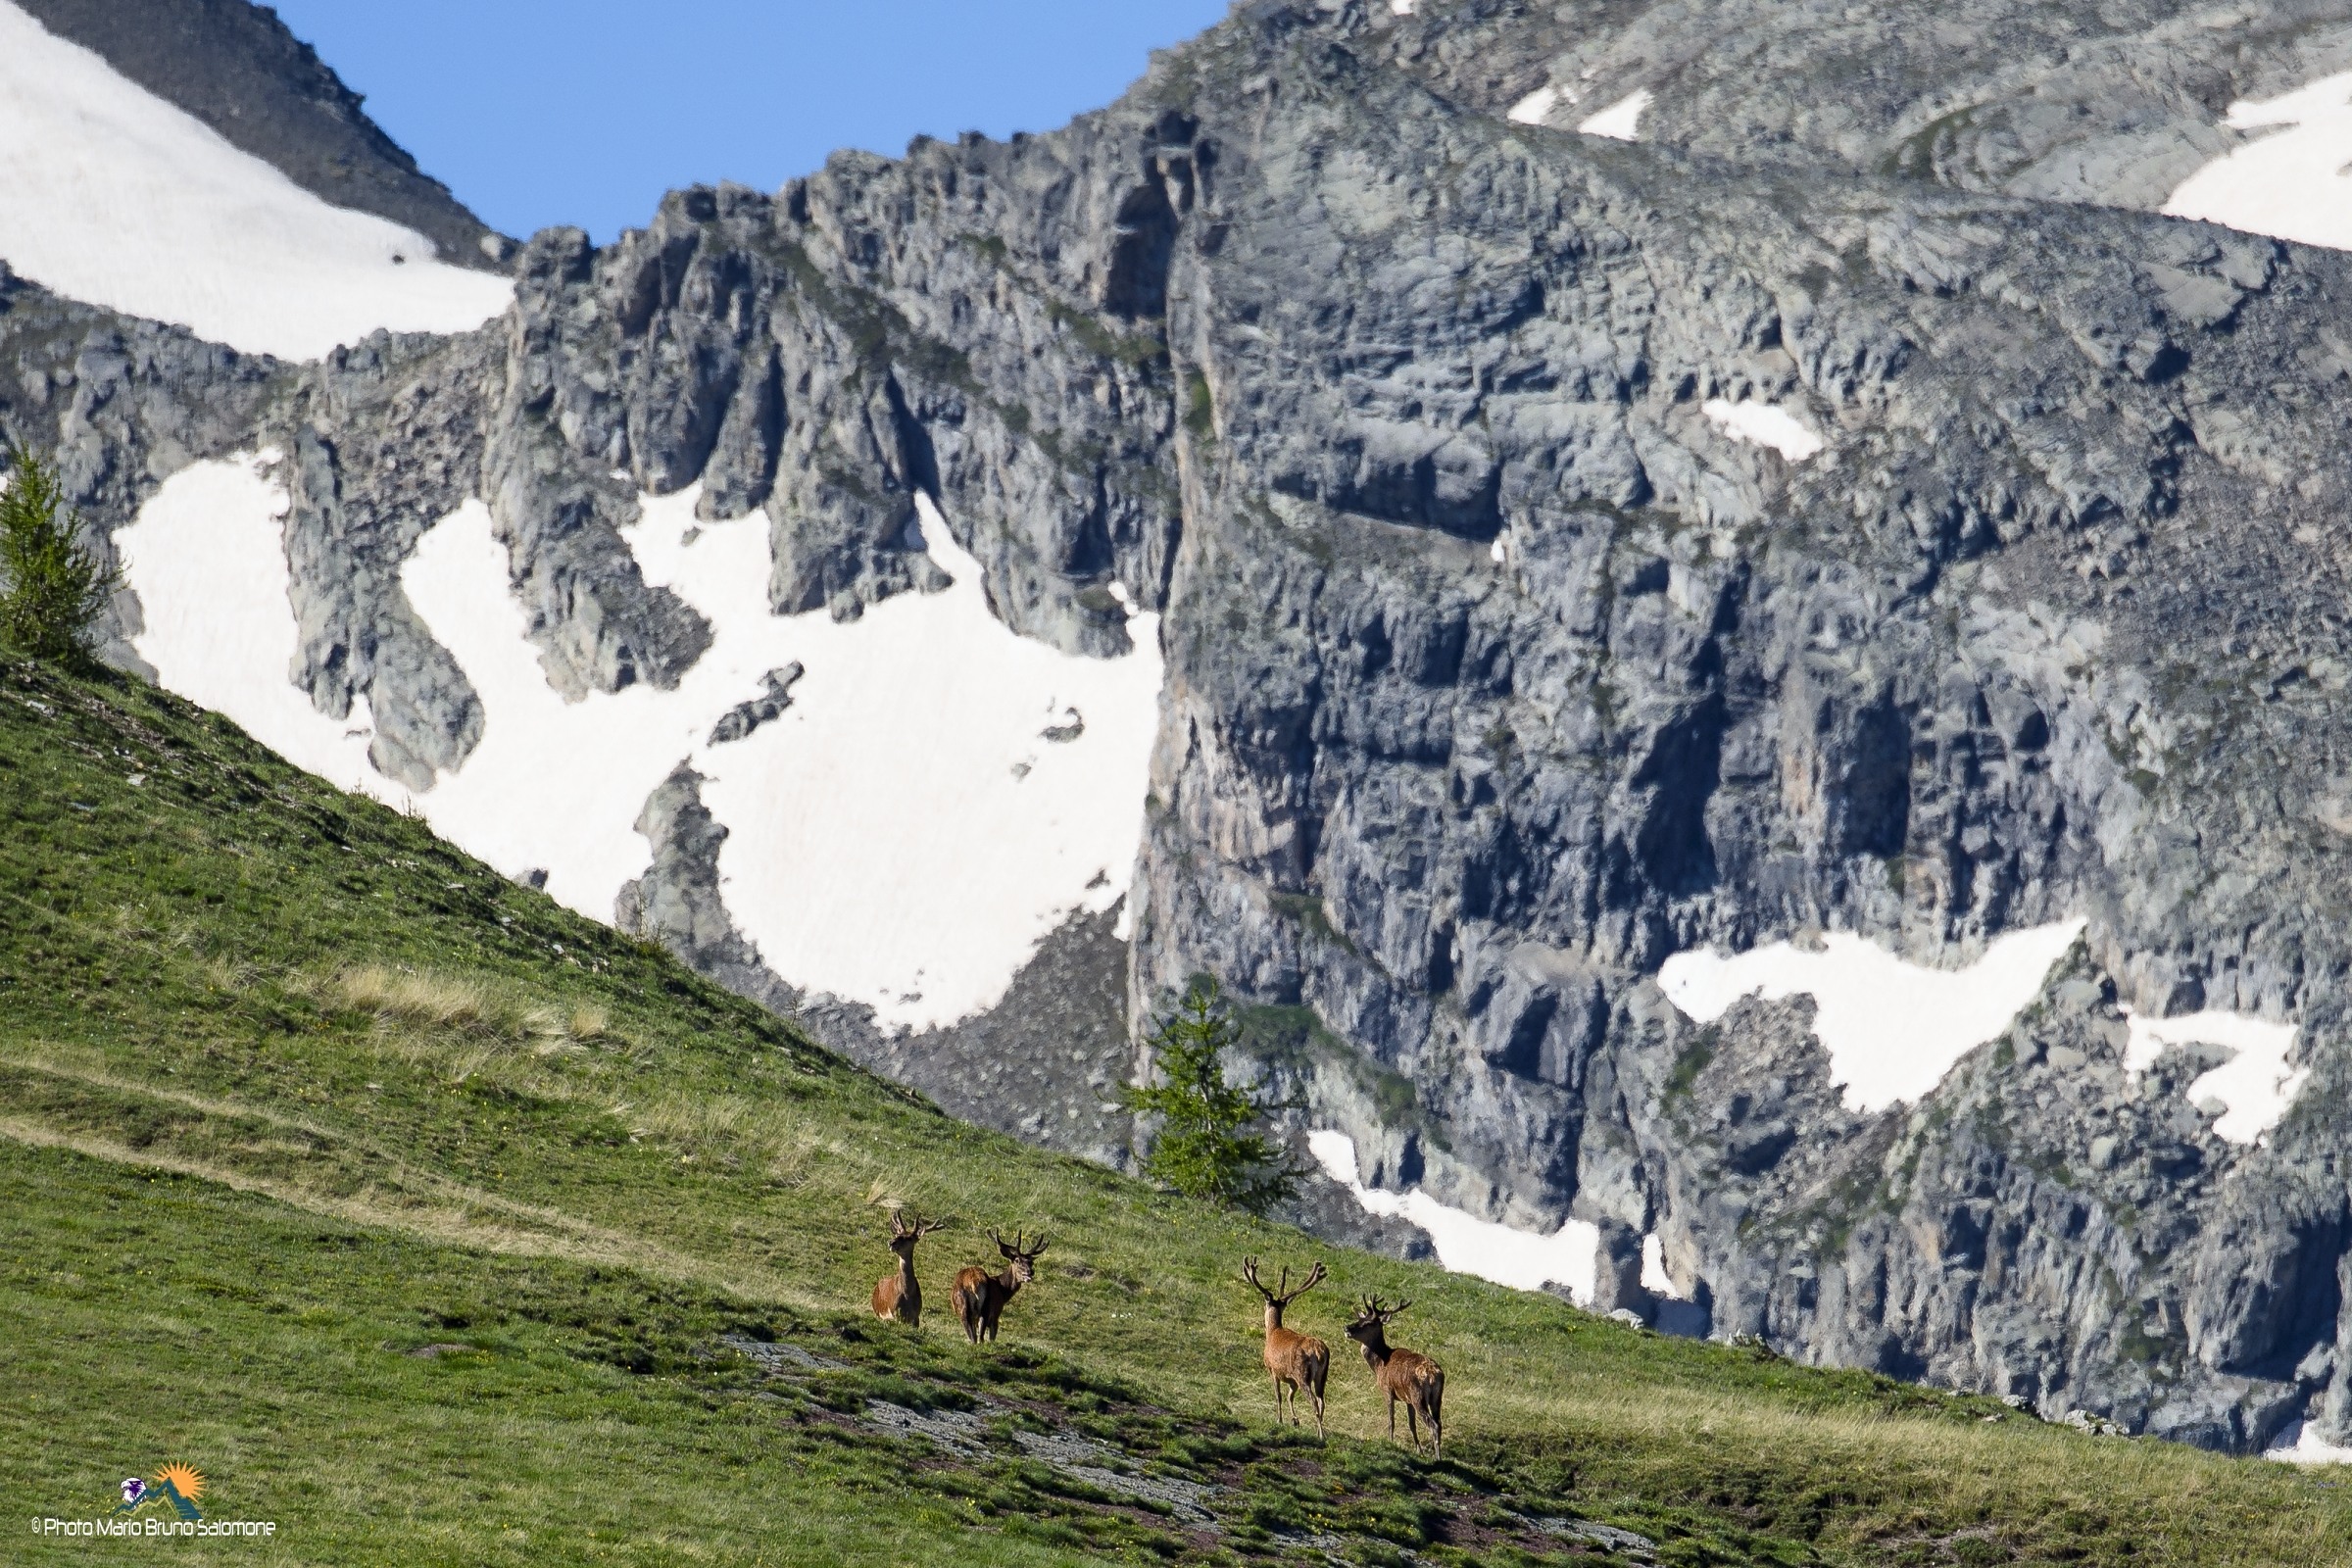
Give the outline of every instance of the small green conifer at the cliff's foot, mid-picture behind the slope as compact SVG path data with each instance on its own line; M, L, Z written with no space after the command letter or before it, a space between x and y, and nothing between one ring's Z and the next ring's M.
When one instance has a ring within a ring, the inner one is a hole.
M1152 1065L1164 1081L1127 1088L1122 1098L1129 1110L1160 1117L1145 1175L1185 1197L1263 1215L1298 1187L1298 1171L1272 1138L1242 1131L1277 1105L1225 1081L1221 1053L1237 1037L1216 980L1192 980L1152 1030Z

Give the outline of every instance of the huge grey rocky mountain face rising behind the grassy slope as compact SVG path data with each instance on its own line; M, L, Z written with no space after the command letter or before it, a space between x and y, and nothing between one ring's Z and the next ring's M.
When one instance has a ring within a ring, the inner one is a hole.
M927 494L1018 632L1162 614L1131 943L1075 922L891 1034L743 940L691 771L616 919L1096 1157L1129 1018L1214 973L1364 1180L1595 1222L1599 1305L1649 1309L1653 1234L1799 1359L2340 1434L2352 259L2136 209L2352 16L2232 19L1251 0L1049 136L543 233L477 334L282 367L14 284L0 428L101 527L287 451L292 679L419 790L482 733L397 578L463 498L586 696L710 642L640 491L757 512L771 609L844 621L941 585ZM1637 89L1639 143L1550 125ZM2039 1001L1882 1110L1813 1001L1698 1023L1656 978L2065 919ZM2298 1030L2260 1138L2190 1100L2225 1053L2133 1048L2199 1009Z

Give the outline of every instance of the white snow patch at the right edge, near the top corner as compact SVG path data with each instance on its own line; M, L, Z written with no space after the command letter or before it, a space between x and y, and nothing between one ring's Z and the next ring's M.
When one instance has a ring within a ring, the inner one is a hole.
M2166 197L2166 214L2352 249L2352 71L2232 103L2223 125L2277 132L2190 174Z

